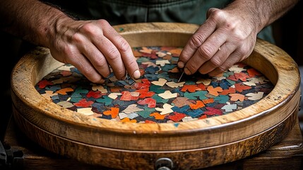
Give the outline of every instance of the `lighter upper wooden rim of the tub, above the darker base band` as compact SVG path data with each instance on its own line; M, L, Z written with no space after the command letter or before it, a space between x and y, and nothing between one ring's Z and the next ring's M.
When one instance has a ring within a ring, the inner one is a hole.
M198 26L136 23L114 28L132 47L183 46ZM258 69L275 84L273 91L254 105L228 115L186 123L120 123L89 118L42 97L35 90L35 84L62 63L54 60L48 49L37 47L21 58L13 69L13 105L26 120L42 130L88 145L146 151L215 147L244 140L278 125L292 114L299 102L299 70L286 52L257 40L254 52L244 63Z

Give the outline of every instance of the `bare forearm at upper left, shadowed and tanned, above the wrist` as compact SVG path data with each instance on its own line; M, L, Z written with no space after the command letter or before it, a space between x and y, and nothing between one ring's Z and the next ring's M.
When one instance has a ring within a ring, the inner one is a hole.
M36 45L49 46L59 22L71 19L37 0L1 0L0 28Z

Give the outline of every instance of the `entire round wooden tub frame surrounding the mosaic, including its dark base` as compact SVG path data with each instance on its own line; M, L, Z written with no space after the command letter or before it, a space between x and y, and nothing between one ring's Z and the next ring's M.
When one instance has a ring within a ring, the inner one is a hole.
M198 28L186 23L114 26L132 47L184 46ZM94 119L48 101L35 84L63 63L37 47L11 77L13 115L30 139L51 152L115 169L154 169L160 161L199 169L259 153L292 129L299 108L299 70L286 52L257 40L244 60L275 86L251 106L227 115L178 123L121 123Z

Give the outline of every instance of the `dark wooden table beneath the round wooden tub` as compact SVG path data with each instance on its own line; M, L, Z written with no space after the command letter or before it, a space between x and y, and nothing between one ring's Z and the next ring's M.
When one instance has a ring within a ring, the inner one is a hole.
M16 127L13 118L8 124L4 145L9 145L12 152L17 153L16 164L12 166L23 169L109 169L107 167L92 166L74 159L61 157L51 153L29 140ZM303 167L303 138L297 122L290 134L277 145L252 157L236 162L206 168L210 169L302 169Z

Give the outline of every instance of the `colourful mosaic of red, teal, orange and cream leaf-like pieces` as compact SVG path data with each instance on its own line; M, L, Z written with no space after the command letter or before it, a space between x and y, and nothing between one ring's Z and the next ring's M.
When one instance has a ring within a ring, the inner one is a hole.
M70 64L54 70L35 88L57 105L95 118L132 123L176 123L232 113L273 89L266 77L242 63L217 77L183 75L182 47L134 47L141 79L119 81L111 74L93 84Z

